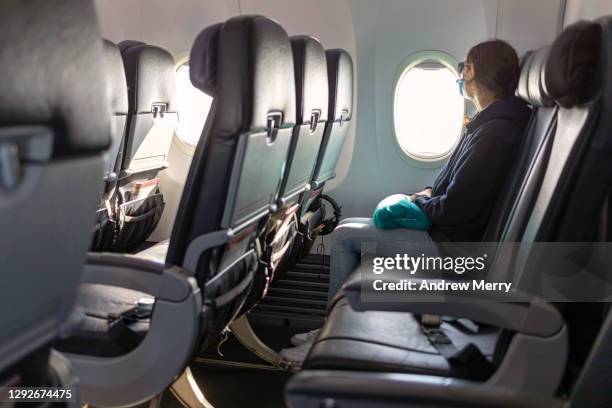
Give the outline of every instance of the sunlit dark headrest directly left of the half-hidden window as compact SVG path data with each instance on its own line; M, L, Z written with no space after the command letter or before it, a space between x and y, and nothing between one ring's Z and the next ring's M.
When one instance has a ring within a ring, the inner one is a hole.
M125 65L130 112L151 112L154 103L165 103L172 111L170 103L176 90L172 55L140 41L122 41L119 48Z

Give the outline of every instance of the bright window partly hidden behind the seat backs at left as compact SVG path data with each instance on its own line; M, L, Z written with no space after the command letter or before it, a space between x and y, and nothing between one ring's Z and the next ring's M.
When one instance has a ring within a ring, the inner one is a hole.
M178 136L183 142L195 146L202 135L212 98L191 84L188 64L182 64L176 70L175 101Z

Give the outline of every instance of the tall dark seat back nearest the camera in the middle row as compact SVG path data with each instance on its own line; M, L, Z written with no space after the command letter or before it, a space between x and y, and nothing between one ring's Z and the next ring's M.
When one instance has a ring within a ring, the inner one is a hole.
M255 239L275 209L295 125L295 86L289 37L262 16L203 30L189 65L193 85L214 99L166 261L195 274L208 306L207 344L250 291Z

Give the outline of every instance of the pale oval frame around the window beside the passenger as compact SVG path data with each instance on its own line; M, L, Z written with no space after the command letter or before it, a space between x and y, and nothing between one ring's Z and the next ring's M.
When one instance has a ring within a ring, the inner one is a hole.
M461 139L461 135L463 133L463 128L464 128L463 124L461 124L461 126L458 127L457 137L456 137L455 142L451 146L451 148L448 151L441 153L439 155L433 156L433 157L420 156L406 149L400 142L400 137L398 135L397 125L396 125L395 109L397 105L396 102L398 98L398 90L399 90L400 81L402 80L402 78L408 71L410 71L412 68L416 67L417 65L425 63L425 62L435 62L435 63L441 64L445 68L448 68L456 76L456 78L459 78L459 73L457 72L458 60L452 55L444 51L423 50L423 51L417 51L415 53L408 55L398 66L398 69L395 73L395 77L393 80L393 96L392 96L393 99L392 99L392 108L391 108L391 116L392 116L391 120L392 120L392 126L393 126L394 144L395 144L395 147L398 149L398 152L400 153L400 155L405 160L407 160L410 164L415 165L417 167L435 168L435 167L442 166L444 162L446 161L446 159L452 154L452 152L457 147L457 144L459 143L459 140ZM468 101L464 100L464 103L463 103L463 116L464 117L467 114L467 112L468 112Z

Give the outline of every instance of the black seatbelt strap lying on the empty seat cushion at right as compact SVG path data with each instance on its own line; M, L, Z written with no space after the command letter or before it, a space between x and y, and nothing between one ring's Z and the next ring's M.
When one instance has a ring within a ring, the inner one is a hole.
M465 368L470 379L484 381L493 373L493 364L474 344L469 343L459 349L439 325L422 324L421 329L438 353L451 365Z

